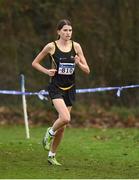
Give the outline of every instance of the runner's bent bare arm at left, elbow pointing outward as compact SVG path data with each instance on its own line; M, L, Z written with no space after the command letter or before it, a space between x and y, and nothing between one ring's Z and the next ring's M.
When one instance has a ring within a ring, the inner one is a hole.
M33 60L32 66L37 69L38 71L47 74L49 76L54 76L56 69L47 69L43 67L40 62L44 59L45 56L47 56L49 53L53 51L53 45L52 43L47 44L43 50L37 55L37 57Z

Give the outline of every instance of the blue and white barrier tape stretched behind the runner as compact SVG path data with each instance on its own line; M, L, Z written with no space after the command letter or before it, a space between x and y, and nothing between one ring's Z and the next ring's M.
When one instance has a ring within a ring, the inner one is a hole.
M91 93L91 92L101 92L101 91L111 91L117 90L117 96L120 97L121 91L123 89L138 88L139 85L121 86L121 87L99 87L99 88L89 88L89 89L76 89L76 93ZM0 90L0 94L9 95L37 95L41 100L47 99L44 95L48 95L48 91L41 90L39 92L21 92L14 90Z

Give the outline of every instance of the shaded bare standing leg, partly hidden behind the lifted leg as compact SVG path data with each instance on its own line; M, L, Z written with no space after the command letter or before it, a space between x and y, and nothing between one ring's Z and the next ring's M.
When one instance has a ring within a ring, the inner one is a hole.
M72 107L68 107L69 113L71 111L71 108ZM57 130L57 132L54 136L54 139L52 141L52 144L51 144L51 149L50 149L51 152L56 153L56 150L63 138L65 128L66 128L66 125Z

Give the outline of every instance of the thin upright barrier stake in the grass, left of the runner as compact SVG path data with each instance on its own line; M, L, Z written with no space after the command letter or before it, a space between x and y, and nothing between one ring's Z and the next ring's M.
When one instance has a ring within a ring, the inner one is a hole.
M21 91L22 91L22 93L25 92L25 78L24 78L23 74L21 74ZM29 139L30 138L30 134L29 134L29 123L28 123L27 103L26 103L26 96L25 96L25 94L22 94L22 104L23 104L23 113L24 113L26 138Z

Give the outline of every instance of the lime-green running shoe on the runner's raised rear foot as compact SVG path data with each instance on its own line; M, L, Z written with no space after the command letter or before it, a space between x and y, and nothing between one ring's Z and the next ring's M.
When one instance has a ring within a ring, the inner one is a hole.
M44 147L45 150L49 151L50 150L50 145L51 145L51 142L52 142L52 139L53 139L53 136L50 135L49 133L49 130L51 129L51 127L49 127L46 131L46 134L43 138L43 141L42 141L42 145Z

